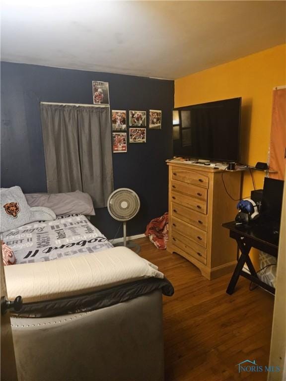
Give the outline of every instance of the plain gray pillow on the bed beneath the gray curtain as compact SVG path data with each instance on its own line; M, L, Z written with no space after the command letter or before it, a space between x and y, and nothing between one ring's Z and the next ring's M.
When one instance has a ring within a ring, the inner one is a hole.
M81 191L66 193L27 193L25 197L30 206L46 206L52 209L57 216L63 214L95 215L90 195Z

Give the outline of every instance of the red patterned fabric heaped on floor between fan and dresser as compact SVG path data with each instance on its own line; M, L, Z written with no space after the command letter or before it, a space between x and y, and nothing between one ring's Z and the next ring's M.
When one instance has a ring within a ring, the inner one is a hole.
M161 217L154 218L148 223L145 236L149 237L157 249L164 250L168 242L168 228L168 212L166 212Z

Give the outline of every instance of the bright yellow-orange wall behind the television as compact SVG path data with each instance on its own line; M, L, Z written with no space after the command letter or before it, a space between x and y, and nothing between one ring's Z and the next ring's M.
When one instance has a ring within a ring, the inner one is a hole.
M286 85L286 45L175 80L175 107L242 97L241 162L267 162L270 141L273 87ZM256 188L263 188L264 175L255 172ZM243 196L252 189L244 176Z

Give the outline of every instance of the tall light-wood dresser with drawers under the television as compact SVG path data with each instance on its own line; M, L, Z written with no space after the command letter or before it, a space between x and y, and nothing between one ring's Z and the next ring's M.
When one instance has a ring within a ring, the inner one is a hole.
M167 250L184 256L213 279L236 265L237 245L223 222L234 220L240 198L240 171L222 171L172 160L169 166ZM222 177L223 176L223 177ZM233 242L232 242L233 241Z

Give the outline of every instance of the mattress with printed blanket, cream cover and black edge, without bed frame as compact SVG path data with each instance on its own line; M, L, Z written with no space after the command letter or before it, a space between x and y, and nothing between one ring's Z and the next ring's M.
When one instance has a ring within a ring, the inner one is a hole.
M174 292L157 266L114 248L83 215L24 225L2 240L16 257L4 271L8 299L22 296L21 316L92 311L158 289Z

